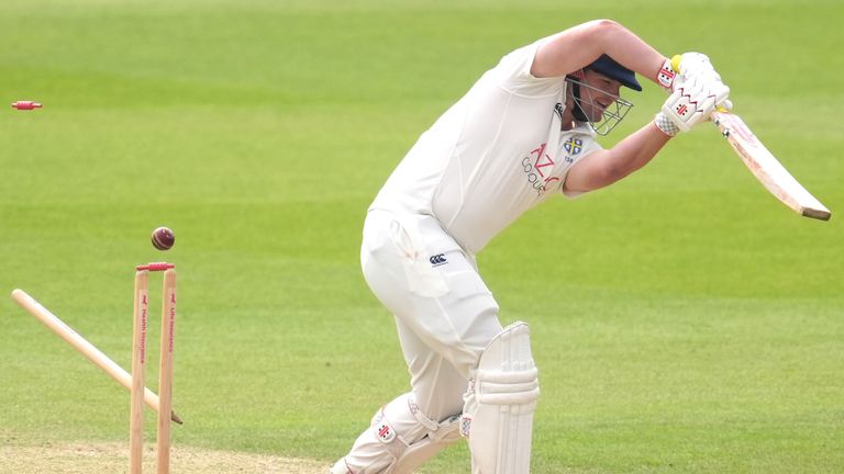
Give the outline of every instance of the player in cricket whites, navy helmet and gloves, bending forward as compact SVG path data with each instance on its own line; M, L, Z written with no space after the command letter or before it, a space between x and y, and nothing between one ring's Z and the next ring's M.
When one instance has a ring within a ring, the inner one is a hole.
M668 94L653 121L604 149L636 74ZM540 397L530 330L502 326L475 256L528 210L647 165L730 106L699 53L666 58L611 20L515 49L413 145L366 216L364 276L395 315L410 392L378 409L331 474L409 474L465 438L473 474L526 474ZM542 258L541 255L536 256Z

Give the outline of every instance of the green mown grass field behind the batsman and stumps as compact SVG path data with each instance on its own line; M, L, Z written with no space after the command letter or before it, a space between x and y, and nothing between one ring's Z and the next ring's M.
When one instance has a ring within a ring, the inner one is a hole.
M0 104L45 106L0 113L0 290L129 366L133 267L176 262L175 444L327 465L408 385L358 268L380 184L502 54L612 18L708 53L833 217L792 214L704 125L493 240L481 273L541 371L533 472L844 472L844 4L573 3L3 1ZM628 97L604 146L664 100ZM127 445L127 393L8 297L0 400L0 453L33 472L76 472L37 448ZM465 445L424 472L468 472Z

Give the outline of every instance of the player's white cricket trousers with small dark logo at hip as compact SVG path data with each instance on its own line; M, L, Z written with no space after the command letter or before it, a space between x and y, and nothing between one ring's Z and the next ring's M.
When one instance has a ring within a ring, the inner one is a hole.
M474 258L430 215L370 211L360 264L373 293L395 315L410 372L411 393L381 413L412 444L426 433L422 421L462 413L469 372L501 332L498 304ZM346 455L351 472L379 472L371 467L381 449L373 431L360 435Z

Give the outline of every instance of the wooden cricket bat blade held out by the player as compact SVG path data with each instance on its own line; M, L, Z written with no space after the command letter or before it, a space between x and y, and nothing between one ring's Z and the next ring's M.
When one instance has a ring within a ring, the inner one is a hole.
M712 112L712 122L759 182L798 214L829 221L832 213L780 165L744 123L728 111Z

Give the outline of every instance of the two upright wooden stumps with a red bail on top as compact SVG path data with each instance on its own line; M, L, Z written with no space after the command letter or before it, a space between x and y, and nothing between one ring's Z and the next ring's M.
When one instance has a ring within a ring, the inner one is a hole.
M132 323L132 396L129 422L129 472L141 474L144 450L144 377L149 272L164 271L162 289L162 345L158 370L157 473L170 472L170 422L173 409L173 349L176 328L176 266L149 263L135 268L134 319ZM162 416L162 414L165 414Z

